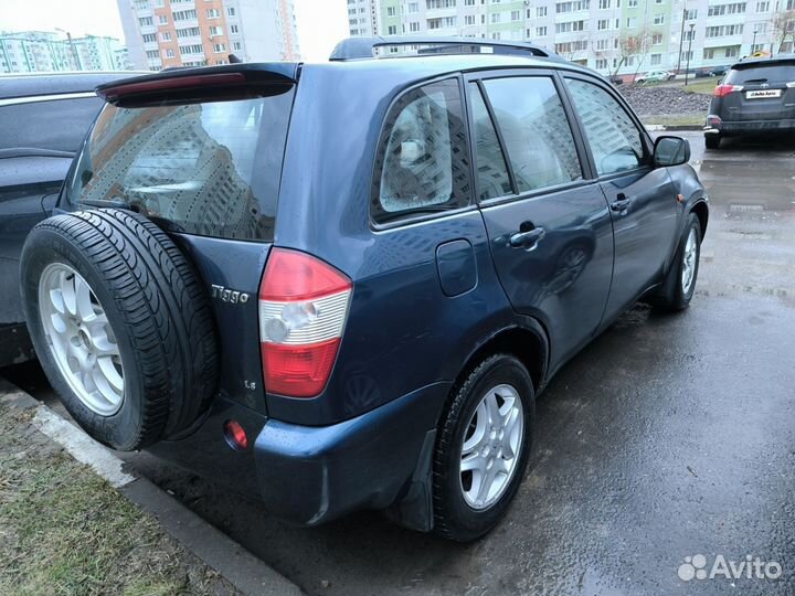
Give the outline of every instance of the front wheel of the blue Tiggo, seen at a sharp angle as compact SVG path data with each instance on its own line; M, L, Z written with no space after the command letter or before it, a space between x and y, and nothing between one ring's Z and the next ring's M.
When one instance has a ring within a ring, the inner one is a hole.
M678 311L690 306L696 292L699 257L701 256L701 222L695 213L688 215L685 231L679 240L676 260L651 305L660 310Z

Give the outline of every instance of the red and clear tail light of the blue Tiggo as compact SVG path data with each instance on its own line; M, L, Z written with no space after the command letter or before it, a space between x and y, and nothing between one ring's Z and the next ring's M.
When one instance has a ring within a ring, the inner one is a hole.
M273 248L259 284L259 351L268 393L319 395L348 318L353 284L305 253Z

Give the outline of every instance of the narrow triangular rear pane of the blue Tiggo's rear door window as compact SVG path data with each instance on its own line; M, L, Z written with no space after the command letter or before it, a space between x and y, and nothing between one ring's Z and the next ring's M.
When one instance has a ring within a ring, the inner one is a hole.
M512 194L508 166L480 88L469 85L473 106L473 135L477 151L478 195L480 200Z

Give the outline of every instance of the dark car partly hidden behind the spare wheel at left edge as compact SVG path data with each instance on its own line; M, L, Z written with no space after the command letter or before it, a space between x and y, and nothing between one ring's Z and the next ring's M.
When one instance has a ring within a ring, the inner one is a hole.
M0 75L0 366L34 356L19 295L25 236L52 210L104 104L94 87L134 74Z

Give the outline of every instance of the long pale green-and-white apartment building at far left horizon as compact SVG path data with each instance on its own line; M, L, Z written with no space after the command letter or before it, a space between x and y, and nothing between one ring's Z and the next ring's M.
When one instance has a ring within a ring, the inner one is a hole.
M129 70L115 38L72 38L47 31L0 33L0 73Z

